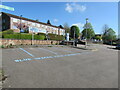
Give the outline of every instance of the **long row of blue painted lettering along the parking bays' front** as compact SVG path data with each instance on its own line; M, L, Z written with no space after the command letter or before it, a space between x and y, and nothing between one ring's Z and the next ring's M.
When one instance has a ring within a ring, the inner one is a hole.
M86 52L86 53L89 53L89 52ZM82 54L82 53L56 55L56 56L46 56L46 57L38 57L38 58L18 59L18 60L14 60L14 61L15 62L24 62L24 61L30 61L30 60L42 60L42 59L48 59L48 58L68 57L68 56L75 56L75 55L80 55L80 54Z

